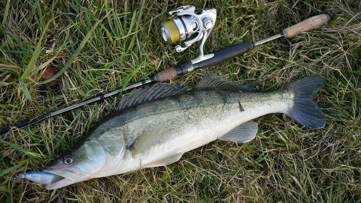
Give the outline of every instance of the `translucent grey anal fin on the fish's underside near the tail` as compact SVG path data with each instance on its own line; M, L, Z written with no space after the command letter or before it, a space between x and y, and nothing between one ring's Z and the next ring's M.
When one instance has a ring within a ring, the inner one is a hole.
M258 123L245 122L236 126L234 129L230 130L228 133L222 135L218 139L223 141L245 143L256 137L257 130Z

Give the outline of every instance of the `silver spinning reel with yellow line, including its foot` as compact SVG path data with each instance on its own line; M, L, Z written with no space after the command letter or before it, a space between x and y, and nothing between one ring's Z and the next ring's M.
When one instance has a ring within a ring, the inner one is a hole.
M217 18L217 9L204 8L195 13L196 7L192 5L183 6L169 12L175 14L168 21L161 24L163 39L168 44L183 42L183 46L175 46L176 52L186 50L193 43L202 40L199 46L199 55L192 59L192 63L203 61L214 56L213 53L204 55L203 46L205 40L212 31Z

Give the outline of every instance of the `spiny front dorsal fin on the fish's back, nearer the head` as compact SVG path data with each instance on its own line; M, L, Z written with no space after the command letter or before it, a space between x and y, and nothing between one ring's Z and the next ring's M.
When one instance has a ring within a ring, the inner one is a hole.
M187 87L156 84L144 89L133 90L129 95L123 96L118 105L118 110L135 104L148 102L169 95L180 94L187 91Z

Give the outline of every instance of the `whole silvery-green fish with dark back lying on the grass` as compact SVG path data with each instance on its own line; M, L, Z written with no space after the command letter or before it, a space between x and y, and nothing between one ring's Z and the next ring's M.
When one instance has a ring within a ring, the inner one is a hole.
M208 75L190 90L167 84L140 88L123 96L114 113L70 151L36 172L39 177L33 181L53 190L169 165L185 152L217 139L246 143L258 131L258 123L251 120L269 113L284 113L306 128L323 128L326 116L313 98L324 84L325 79L316 75L273 91L254 91ZM46 178L41 178L42 173Z

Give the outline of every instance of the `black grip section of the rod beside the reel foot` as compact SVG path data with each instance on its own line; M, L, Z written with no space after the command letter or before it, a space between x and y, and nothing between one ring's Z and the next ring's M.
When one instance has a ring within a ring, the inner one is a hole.
M251 42L243 42L240 44L235 44L226 48L219 49L218 51L213 52L214 56L210 59L197 62L193 64L194 69L207 68L209 66L217 65L222 62L234 59L237 56L242 56L252 49Z

